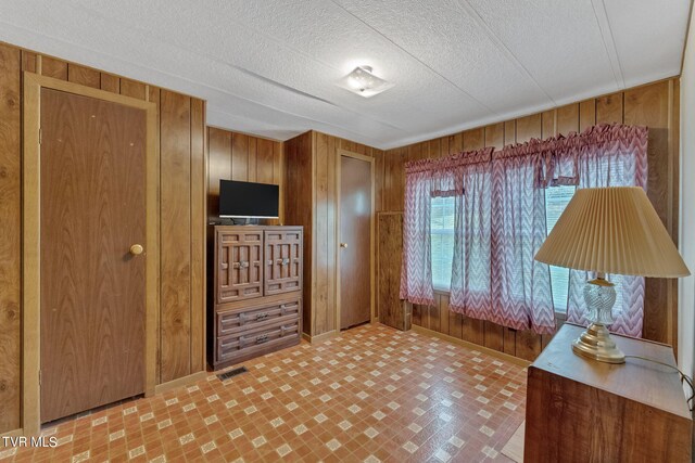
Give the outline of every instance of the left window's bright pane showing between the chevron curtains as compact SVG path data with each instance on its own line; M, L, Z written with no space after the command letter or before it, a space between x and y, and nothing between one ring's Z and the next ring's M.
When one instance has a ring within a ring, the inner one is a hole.
M432 197L430 232L432 237L432 285L448 291L454 258L454 197Z

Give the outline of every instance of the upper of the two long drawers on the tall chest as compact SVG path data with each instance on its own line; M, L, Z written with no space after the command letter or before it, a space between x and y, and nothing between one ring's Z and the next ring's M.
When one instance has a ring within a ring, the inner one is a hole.
M300 307L300 299L294 298L217 312L215 316L217 319L217 335L235 334L260 324L267 325L267 323L280 321L280 319L299 317Z

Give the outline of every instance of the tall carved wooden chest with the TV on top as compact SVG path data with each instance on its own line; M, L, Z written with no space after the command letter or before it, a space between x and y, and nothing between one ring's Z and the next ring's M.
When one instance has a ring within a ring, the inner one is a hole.
M207 318L214 370L299 344L302 227L214 227Z

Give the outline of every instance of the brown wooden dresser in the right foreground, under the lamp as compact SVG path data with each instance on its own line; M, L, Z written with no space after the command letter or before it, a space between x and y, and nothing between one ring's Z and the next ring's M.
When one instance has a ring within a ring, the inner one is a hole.
M584 329L566 323L529 366L527 462L690 462L693 421L679 374L628 358L586 360L570 343ZM675 365L671 347L612 335L626 356Z

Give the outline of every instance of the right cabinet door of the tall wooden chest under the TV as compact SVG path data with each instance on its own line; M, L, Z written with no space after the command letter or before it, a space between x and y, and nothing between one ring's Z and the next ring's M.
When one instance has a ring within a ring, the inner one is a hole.
M265 231L265 295L302 288L302 230Z

